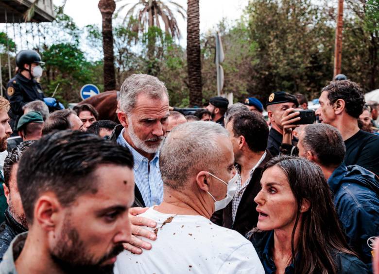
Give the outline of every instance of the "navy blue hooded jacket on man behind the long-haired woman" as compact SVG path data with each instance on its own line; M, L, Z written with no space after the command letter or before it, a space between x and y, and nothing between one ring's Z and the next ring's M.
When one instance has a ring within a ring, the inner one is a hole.
M367 169L345 163L327 182L349 246L372 269L369 238L379 235L379 182Z

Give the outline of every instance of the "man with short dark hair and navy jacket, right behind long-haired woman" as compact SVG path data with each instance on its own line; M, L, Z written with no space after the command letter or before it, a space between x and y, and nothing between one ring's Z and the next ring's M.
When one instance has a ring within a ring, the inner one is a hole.
M321 167L347 242L372 270L373 246L379 236L378 178L359 165L345 165L344 140L338 129L330 125L306 126L297 147L299 156Z

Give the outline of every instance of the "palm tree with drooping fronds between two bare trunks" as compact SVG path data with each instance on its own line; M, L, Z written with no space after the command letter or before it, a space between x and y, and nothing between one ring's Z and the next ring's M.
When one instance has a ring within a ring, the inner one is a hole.
M124 0L116 0L116 2L124 2ZM128 2L121 5L116 15L121 13L128 5L132 5L132 3ZM180 38L180 31L174 12L180 14L183 18L186 17L186 10L174 1L170 0L165 3L165 1L161 0L137 0L127 11L123 23L134 17L137 20L129 20L128 28L134 32L145 33L151 27L161 29L161 22L163 22L165 32L170 33L172 38ZM154 49L155 36L148 41L147 55L149 59L154 57Z

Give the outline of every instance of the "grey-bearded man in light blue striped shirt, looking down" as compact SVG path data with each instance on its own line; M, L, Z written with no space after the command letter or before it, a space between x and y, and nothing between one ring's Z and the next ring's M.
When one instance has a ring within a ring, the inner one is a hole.
M135 202L133 206L151 207L163 200L159 171L159 148L166 135L169 95L162 81L147 74L133 74L122 84L121 125L109 139L129 148L134 158Z

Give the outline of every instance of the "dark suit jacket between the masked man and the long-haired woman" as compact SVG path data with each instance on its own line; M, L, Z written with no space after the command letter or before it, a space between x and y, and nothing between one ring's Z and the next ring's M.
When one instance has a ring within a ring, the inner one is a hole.
M230 202L224 210L216 211L211 217L211 221L219 226L224 226L238 231L245 236L258 223L257 204L254 202L255 196L260 191L260 178L262 177L262 169L272 156L268 150L264 160L254 170L253 176L242 194L241 202L237 209L236 218L233 225L232 202Z

